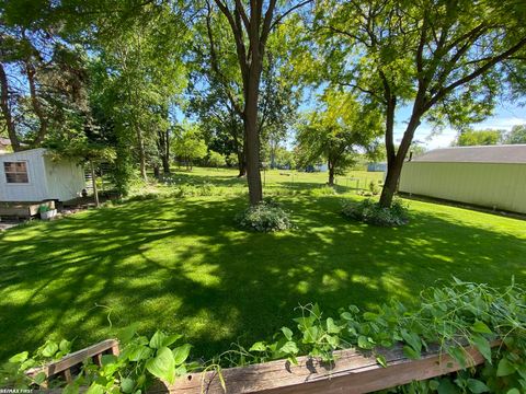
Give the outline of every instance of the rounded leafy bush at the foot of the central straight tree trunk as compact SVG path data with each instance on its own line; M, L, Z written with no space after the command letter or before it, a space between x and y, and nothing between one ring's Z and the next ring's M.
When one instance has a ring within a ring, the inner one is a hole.
M283 231L293 227L288 213L272 200L245 209L236 219L242 228L260 232Z

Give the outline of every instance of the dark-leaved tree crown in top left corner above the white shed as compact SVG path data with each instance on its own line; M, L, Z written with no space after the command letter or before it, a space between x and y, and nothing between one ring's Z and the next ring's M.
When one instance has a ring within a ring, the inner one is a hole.
M0 114L13 149L41 146L87 111L87 57L46 3L0 4Z

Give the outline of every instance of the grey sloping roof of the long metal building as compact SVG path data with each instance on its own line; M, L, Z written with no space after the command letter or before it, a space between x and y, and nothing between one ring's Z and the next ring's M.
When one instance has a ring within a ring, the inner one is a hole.
M435 163L524 163L526 144L455 147L435 149L413 158L414 162Z

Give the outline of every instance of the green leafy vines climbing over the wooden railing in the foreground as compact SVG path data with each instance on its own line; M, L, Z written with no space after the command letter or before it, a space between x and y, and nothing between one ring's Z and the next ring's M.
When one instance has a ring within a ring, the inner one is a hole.
M410 311L400 302L381 306L376 312L361 312L355 305L340 310L338 317L325 317L317 304L300 306L300 316L293 328L282 327L273 341L258 341L250 348L237 345L208 362L187 362L191 346L173 346L180 335L157 332L150 339L136 333L132 325L121 332L119 356L103 356L102 364L85 362L81 373L66 387L78 392L90 386L92 392L141 392L153 379L173 383L192 370L217 370L287 358L297 363L297 356L308 355L327 362L338 362L333 351L356 348L371 351L379 364L387 367L378 350L402 346L410 359L438 347L464 370L458 373L414 382L388 392L399 393L506 393L526 390L526 294L511 286L494 289L487 285L462 282L430 288L420 297L420 308ZM492 346L501 340L500 346ZM465 346L474 346L487 360L479 368L468 369ZM10 358L1 369L1 385L35 387L45 375L27 378L25 371L38 363L56 360L70 350L70 343L48 340L30 358L27 351ZM220 378L222 382L222 378ZM57 382L60 384L60 382ZM222 383L224 384L224 383Z

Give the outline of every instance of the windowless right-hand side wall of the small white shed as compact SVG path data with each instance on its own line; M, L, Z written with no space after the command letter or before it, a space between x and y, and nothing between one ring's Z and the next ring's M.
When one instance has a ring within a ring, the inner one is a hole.
M79 197L84 184L84 171L72 161L53 161L44 155L47 177L47 198L67 201Z

